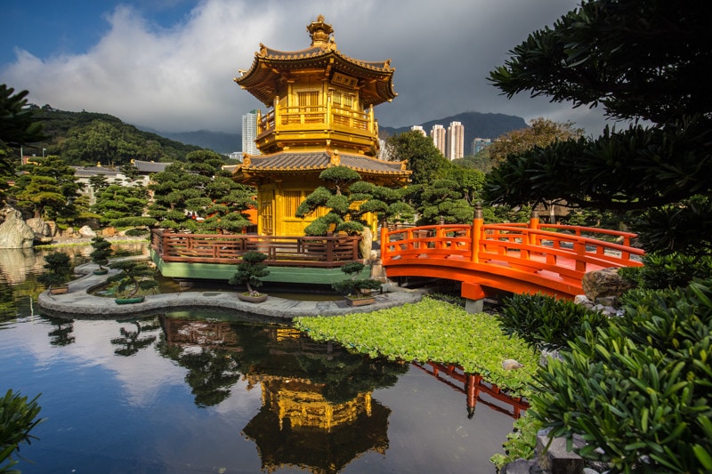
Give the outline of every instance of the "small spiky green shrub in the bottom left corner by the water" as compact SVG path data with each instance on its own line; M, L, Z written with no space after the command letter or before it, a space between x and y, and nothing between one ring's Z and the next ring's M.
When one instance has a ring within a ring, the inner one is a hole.
M20 392L13 392L12 389L0 398L0 472L13 472L10 468L17 461L10 456L20 452L21 443L29 445L32 439L37 439L29 434L44 422L44 419L37 418L42 409L37 405L37 398L39 395L28 402L27 397L20 397ZM4 463L5 460L9 461Z

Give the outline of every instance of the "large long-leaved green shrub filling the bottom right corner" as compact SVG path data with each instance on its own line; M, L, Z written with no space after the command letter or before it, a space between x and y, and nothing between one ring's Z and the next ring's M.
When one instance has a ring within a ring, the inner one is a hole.
M712 470L712 280L638 291L538 374L530 414L611 472ZM603 451L598 451L600 448Z

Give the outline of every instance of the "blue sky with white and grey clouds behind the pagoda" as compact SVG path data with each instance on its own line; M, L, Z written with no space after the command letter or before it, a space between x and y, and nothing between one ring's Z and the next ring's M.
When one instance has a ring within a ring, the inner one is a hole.
M3 0L0 83L29 101L118 116L166 132L238 132L265 107L232 79L259 44L309 46L319 14L339 50L390 58L392 103L381 125L400 127L466 111L572 121L598 134L600 109L499 94L486 79L508 52L578 0Z

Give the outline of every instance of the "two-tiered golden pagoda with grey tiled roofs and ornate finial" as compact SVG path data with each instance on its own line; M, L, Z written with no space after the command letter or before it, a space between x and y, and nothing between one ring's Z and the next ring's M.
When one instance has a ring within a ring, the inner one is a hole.
M235 78L267 108L257 113L255 144L262 155L243 155L234 179L257 188L258 232L301 236L315 219L295 217L305 197L332 166L346 166L364 181L404 186L405 162L378 159L373 108L391 101L390 60L362 61L336 48L334 28L321 15L307 26L309 48L281 52L260 44L247 71Z

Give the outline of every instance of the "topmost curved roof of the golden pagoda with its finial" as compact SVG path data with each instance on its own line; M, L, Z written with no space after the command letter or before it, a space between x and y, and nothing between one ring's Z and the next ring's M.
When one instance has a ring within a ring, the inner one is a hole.
M303 50L284 52L260 44L252 66L247 71L241 70L242 75L234 81L267 107L271 107L279 95L279 81L288 81L299 74L319 74L331 80L335 73L341 73L352 82L340 81L338 84L359 88L363 105L367 107L390 101L398 95L393 91L395 68L391 67L391 60L356 60L340 52L330 36L333 28L321 15L307 26L307 31L312 36L312 44Z

